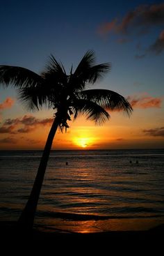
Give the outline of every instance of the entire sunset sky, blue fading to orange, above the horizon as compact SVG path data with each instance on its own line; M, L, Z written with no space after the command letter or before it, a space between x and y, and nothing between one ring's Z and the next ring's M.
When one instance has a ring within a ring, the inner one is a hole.
M111 70L90 89L129 99L133 114L103 126L80 117L58 130L53 149L164 148L164 1L2 1L0 65L40 73L49 55L67 73L87 50ZM54 110L29 112L0 84L0 149L43 149Z

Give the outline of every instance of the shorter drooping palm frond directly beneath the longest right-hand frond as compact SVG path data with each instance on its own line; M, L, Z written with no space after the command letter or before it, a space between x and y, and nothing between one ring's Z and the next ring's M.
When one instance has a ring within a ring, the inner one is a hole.
M102 124L110 118L110 114L103 107L90 100L75 99L72 110L74 112L74 119L81 114L85 115L87 119L95 121L95 123Z

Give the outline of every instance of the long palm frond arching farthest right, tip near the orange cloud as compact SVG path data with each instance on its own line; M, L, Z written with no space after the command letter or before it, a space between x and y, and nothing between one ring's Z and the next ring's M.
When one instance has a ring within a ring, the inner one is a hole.
M123 110L129 116L133 111L129 101L115 91L107 89L91 89L79 92L79 97L86 100L92 100L106 110Z

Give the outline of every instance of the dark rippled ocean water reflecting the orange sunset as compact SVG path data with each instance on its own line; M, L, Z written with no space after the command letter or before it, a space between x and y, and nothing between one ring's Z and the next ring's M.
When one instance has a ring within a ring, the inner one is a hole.
M19 218L41 156L0 151L0 220ZM164 149L51 151L35 227L97 232L150 223L164 223Z

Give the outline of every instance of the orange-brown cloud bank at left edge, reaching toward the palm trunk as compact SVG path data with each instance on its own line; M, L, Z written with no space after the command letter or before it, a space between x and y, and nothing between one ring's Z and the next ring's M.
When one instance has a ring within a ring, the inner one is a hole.
M0 128L0 133L31 133L39 126L50 126L53 119L37 119L35 116L25 115L22 118L6 119Z

